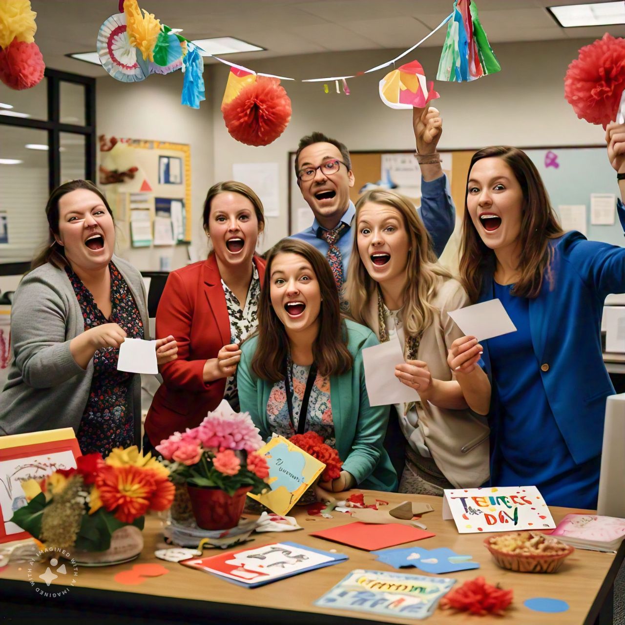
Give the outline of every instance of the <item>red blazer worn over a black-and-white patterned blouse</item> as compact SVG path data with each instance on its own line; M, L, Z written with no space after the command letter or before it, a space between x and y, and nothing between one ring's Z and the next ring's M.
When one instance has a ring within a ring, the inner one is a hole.
M265 261L254 256L261 281ZM204 362L230 342L230 319L217 259L171 272L156 311L156 336L173 334L178 359L159 367L163 384L146 417L146 434L158 445L176 431L199 425L224 397L226 378L204 382Z

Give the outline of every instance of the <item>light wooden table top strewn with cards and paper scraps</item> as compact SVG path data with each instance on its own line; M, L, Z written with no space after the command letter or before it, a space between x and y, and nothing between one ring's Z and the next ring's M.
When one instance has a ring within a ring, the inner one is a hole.
M485 536L482 532L479 532L479 534L458 534L454 521L443 521L441 497L375 491L357 492L364 492L366 502L372 502L377 497L389 501L390 504L398 504L406 500L431 504L434 507L434 511L424 514L421 521L426 524L427 530L434 532L436 536L399 545L398 547L419 546L424 549L449 547L459 554L471 554L474 561L479 562L479 569L458 571L445 574L443 577L456 579L457 584L454 587L458 587L467 579L483 576L490 584L500 584L504 589L511 588L514 591L514 600L506 611L506 623L523 625L532 623L544 624L547 617L546 614L531 611L523 605L523 602L531 597L551 597L566 601L569 604L569 610L557 615L557 623L559 625L593 622L602 597L607 592L607 586L611 585L611 581L613 581L613 577L616 574L615 571L619 566L619 561L622 561L625 543L621 547L618 556L615 556L613 553L576 549L555 574L505 571L492 561L491 555L484 547L483 541ZM369 498L371 498L370 501ZM556 523L571 512L586 512L562 507L551 507L550 509ZM115 597L116 601L126 601L126 604L129 606L136 605L139 607L142 603L148 604L150 601L156 601L157 599L177 599L176 605L181 614L184 613L187 606L189 609L193 606L196 610L198 606L204 606L204 609L210 607L211 614L214 614L215 609L218 609L218 611L220 610L224 614L239 612L248 616L250 614L260 614L260 612L269 608L269 614L273 614L274 619L277 616L277 621L274 620L274 622L280 622L282 617L285 620L288 618L289 621L296 618L299 623L311 622L311 617L314 617L318 622L320 614L333 615L332 622L337 620L337 616L362 621L407 622L407 619L382 617L378 614L368 614L367 612L334 610L314 606L313 602L316 599L325 594L354 569L377 571L398 571L398 569L377 561L376 557L370 552L309 536L309 532L353 522L354 518L348 514L334 511L332 512L332 519L325 519L321 516L311 517L307 514L306 507L303 506L294 507L290 514L296 517L297 522L304 527L303 530L252 534L253 542L237 545L231 547L231 549L238 550L245 547L262 546L271 542L291 541L326 551L336 549L337 552L346 554L349 559L334 566L305 572L301 575L267 584L266 586L253 589L242 588L206 572L157 559L154 556L154 550L163 547L161 533L163 520L157 516L148 516L143 532L144 549L139 558L133 562L116 566L99 568L79 567L76 588L71 588L67 599L69 600L71 594L79 589L90 589L91 596L94 596L94 593L97 592L103 596ZM221 550L217 549L205 549L204 557L220 552ZM127 586L115 581L114 576L118 572L129 570L133 564L138 563L158 563L168 569L169 573L159 577L150 577L138 586ZM0 597L3 595L8 596L9 587L11 589L10 592L14 592L16 587L21 588L24 593L34 592L27 582L27 569L29 567L31 565L28 563L12 563L0 570L1 579L16 582L13 584L8 584L7 582L0 583ZM39 571L39 568L41 568L41 571ZM31 575L37 578L44 571L45 566L36 563L32 565ZM401 569L401 572L428 576L427 573L413 568ZM23 584L18 582L23 582ZM26 587L27 589L25 589ZM51 586L50 589L52 590L53 587ZM109 594L107 594L107 591ZM32 596L34 597L34 594ZM151 599L148 599L148 596L151 596ZM271 609L277 609L280 612L272 612ZM429 617L428 622L432 624L457 623L474 618L457 615L453 610L437 609ZM455 620L451 621L450 619ZM257 619L257 622L260 620ZM481 622L494 622L496 620L499 619L487 616L483 617ZM353 623L356 621L352 620L349 622Z

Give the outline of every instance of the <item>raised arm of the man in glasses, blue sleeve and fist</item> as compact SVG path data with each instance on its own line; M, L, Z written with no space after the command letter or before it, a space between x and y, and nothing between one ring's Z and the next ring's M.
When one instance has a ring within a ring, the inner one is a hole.
M412 128L421 168L421 219L440 256L454 231L456 208L447 176L442 172L436 151L442 134L442 119L434 107L412 109Z

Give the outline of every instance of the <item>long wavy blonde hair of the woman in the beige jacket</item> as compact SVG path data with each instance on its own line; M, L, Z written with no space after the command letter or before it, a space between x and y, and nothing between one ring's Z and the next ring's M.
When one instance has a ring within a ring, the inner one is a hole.
M362 207L372 202L396 209L402 216L409 240L406 259L406 297L403 306L403 322L408 336L417 336L434 321L436 307L431 302L441 284L451 278L451 273L439 265L432 251L432 241L426 227L409 199L392 191L373 189L367 191L356 202L354 224L358 221ZM347 282L344 295L349 302L354 321L371 327L369 302L377 292L377 282L369 276L358 251L358 231L354 234Z

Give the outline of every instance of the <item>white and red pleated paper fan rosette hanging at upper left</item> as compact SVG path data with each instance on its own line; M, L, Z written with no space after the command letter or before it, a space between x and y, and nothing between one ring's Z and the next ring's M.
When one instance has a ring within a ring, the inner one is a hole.
M124 13L112 15L102 24L96 46L100 63L114 79L122 83L138 83L148 78L148 64L130 42Z

